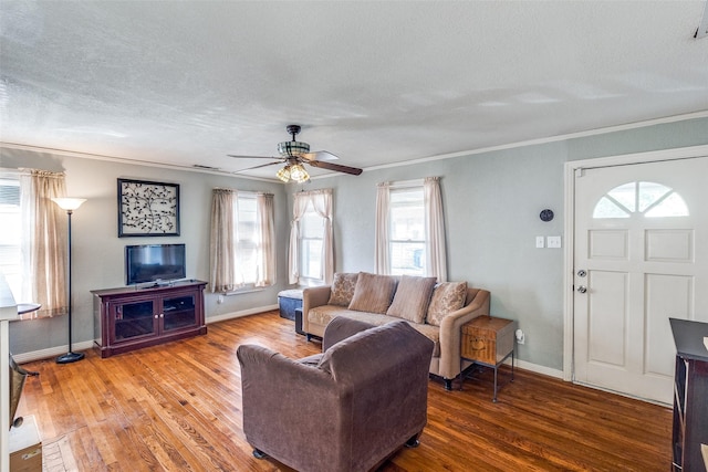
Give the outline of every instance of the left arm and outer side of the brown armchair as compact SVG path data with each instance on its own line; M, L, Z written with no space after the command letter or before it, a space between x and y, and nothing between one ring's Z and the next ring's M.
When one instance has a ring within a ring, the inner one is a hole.
M323 411L334 416L340 410L331 375L263 346L241 345L237 357L243 433L251 447L290 458L299 455L303 438L325 444L326 438L339 437L337 423L322 418Z

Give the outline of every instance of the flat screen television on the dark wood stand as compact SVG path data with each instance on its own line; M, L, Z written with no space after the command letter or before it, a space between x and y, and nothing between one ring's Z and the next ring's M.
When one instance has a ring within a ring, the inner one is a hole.
M185 244L125 247L125 282L127 285L168 282L186 276Z

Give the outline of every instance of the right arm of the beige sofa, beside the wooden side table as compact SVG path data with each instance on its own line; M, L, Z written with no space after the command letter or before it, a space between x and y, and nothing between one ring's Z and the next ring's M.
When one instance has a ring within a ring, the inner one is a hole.
M461 328L470 319L489 315L490 293L477 290L473 298L462 308L450 313L440 324L440 360L438 375L445 379L454 379L462 370Z

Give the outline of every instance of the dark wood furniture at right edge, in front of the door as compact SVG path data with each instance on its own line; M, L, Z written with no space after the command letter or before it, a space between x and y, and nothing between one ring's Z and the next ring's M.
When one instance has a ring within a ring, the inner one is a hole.
M700 444L708 444L708 323L669 322L676 344L673 470L702 472Z

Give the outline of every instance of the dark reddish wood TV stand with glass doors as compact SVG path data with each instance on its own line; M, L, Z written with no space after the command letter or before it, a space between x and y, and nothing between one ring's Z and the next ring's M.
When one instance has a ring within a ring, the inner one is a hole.
M94 290L94 342L101 357L207 333L202 281Z

